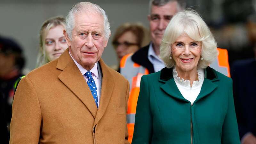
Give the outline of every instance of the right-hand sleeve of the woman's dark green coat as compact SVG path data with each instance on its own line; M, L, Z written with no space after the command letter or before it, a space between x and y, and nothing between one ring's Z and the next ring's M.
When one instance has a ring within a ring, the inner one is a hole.
M232 79L228 88L228 110L222 126L222 144L240 144L233 98Z

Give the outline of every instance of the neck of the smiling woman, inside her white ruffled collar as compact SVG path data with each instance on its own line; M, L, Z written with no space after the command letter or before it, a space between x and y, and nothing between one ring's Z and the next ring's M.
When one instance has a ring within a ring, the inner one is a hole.
M198 74L197 74L197 68L190 70L190 71L183 71L179 68L176 68L177 74L180 77L180 79L189 80L190 87L192 87L192 84L194 81L198 80Z

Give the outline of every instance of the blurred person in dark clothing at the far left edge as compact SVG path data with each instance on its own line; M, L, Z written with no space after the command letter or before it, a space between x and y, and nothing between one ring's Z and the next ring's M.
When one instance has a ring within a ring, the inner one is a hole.
M1 139L9 143L12 117L13 84L22 76L25 58L22 48L13 39L0 36Z

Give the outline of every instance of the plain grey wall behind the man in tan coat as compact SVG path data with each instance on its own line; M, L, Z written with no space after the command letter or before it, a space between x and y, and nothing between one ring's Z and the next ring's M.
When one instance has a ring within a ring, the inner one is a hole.
M39 47L39 30L44 20L66 16L76 0L8 0L0 1L0 35L13 37L24 49L27 59L25 68L35 68ZM116 28L124 22L141 22L148 28L148 0L93 0L108 15L112 36ZM112 36L102 55L108 65L117 64L112 48Z

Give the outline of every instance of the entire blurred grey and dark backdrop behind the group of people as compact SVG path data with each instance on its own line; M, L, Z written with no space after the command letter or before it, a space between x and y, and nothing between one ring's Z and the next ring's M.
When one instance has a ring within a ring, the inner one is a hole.
M228 49L229 63L253 57L256 33L256 0L185 0L186 7L199 12L212 29L218 46ZM39 30L44 20L66 16L76 0L1 0L0 35L14 38L23 47L24 73L35 68L39 50ZM103 53L110 66L118 64L111 45L116 28L124 22L141 22L148 28L148 0L93 0L109 18L112 36Z

